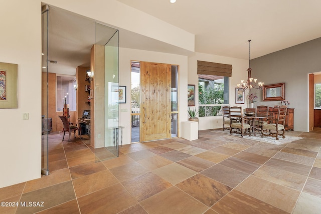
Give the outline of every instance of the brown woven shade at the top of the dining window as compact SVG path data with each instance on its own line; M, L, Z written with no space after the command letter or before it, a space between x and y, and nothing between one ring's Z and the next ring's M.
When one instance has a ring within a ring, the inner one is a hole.
M197 61L197 74L232 77L232 65Z

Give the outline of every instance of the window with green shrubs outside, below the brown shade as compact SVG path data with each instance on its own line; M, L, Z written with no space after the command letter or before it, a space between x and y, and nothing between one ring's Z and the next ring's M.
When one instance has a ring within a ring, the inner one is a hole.
M199 75L199 117L222 115L228 104L228 77Z

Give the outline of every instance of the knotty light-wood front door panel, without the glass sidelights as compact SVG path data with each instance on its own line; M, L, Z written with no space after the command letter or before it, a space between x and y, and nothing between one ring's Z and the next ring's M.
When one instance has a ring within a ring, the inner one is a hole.
M141 141L171 137L171 65L140 63Z

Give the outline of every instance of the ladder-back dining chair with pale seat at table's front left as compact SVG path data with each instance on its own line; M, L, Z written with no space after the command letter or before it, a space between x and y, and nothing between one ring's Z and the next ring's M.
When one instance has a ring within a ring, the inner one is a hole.
M232 133L236 133L241 134L241 137L243 137L243 131L249 130L249 135L251 136L251 126L244 121L247 120L243 118L242 107L230 107L230 135L232 135Z

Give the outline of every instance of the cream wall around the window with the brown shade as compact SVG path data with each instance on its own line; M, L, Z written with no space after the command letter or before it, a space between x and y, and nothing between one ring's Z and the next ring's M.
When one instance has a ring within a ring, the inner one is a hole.
M208 61L214 63L224 63L232 65L232 77L229 81L229 105L230 106L242 106L242 108L247 108L247 100L245 104L236 105L235 104L235 88L236 84L240 83L240 80L247 78L247 67L248 61L230 57L222 57L210 54L195 53L193 56L189 57L189 72L188 72L188 84L198 86L198 75L197 75L197 61ZM198 109L198 87L195 88L195 108ZM246 92L247 94L247 92ZM192 107L191 107L192 108ZM184 113L184 112L183 112ZM187 115L187 111L185 113ZM199 130L221 128L223 127L222 116L213 117L199 117Z

